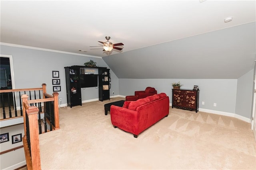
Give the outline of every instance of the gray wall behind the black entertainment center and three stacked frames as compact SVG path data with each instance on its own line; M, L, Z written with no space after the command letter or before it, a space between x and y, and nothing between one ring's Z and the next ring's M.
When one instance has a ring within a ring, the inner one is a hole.
M1 45L0 47L1 54L12 55L16 89L42 87L42 83L46 83L47 93L52 94L52 71L59 71L61 91L58 93L59 98L62 98L62 103L67 103L64 67L84 65L84 63L90 61L90 59L95 61L97 66L108 67L101 58L10 47L6 45ZM112 91L115 92L115 95L118 95L118 78L112 70L110 70L110 73L110 95L112 95ZM81 90L81 93L82 101L98 99L98 87L84 88Z

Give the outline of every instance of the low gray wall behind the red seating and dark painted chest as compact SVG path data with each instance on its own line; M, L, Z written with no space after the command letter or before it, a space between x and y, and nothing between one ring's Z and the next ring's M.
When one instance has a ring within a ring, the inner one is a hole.
M124 96L134 95L134 91L151 86L158 93L166 93L172 103L171 84L178 81L183 84L181 89L193 89L194 85L198 85L199 108L235 113L237 79L119 79L119 93ZM217 103L217 107L213 103Z

